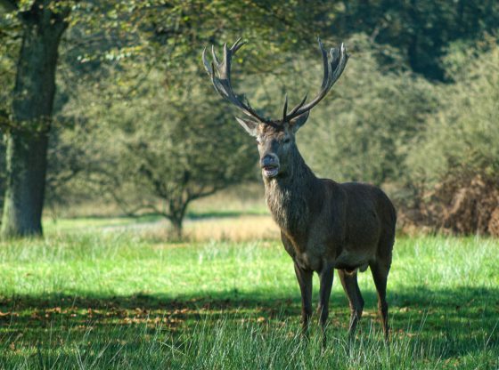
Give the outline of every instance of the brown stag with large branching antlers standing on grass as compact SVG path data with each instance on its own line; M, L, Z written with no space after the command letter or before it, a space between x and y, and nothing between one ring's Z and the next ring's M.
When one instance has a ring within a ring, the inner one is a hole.
M389 197L373 185L339 183L316 177L301 156L295 138L299 128L307 122L310 110L331 91L345 69L349 57L345 46L340 44L339 48L331 48L328 54L318 38L323 57L323 82L319 93L309 102L306 94L290 111L286 95L282 117L270 119L258 114L244 95L240 98L233 91L232 58L243 44L241 38L230 48L225 44L221 61L217 59L213 45L209 61L205 47L202 61L217 93L241 110L245 117L236 117L236 120L258 142L266 204L281 229L282 245L290 254L299 283L302 334L308 338L312 280L316 272L320 282L317 311L325 347L331 287L334 269L337 269L350 308L348 337L354 338L364 310L357 273L369 267L377 291L384 339L388 342L386 294L395 243L395 207Z

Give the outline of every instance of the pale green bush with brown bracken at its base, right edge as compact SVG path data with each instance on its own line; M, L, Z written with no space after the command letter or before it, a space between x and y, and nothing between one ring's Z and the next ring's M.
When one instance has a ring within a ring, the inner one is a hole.
M439 87L440 109L407 158L421 184L429 225L499 235L499 46L488 39L449 54L455 83Z

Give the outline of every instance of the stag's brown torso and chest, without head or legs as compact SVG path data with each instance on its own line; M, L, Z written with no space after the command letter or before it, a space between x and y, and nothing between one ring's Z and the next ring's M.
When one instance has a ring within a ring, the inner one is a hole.
M266 203L281 229L282 243L300 268L365 270L378 253L391 253L380 242L394 238L395 211L380 189L339 184L307 172L306 181L264 179Z

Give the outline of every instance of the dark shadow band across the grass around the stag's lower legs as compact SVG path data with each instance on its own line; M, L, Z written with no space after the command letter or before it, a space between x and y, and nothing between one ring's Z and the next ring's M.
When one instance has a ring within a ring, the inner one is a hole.
M374 330L374 334L381 337L376 295L371 290L363 295L365 308L359 335ZM418 346L437 349L435 356L444 359L481 356L486 350L493 356L499 354L499 330L496 327L499 323L499 289L429 290L418 286L390 291L389 304L394 340L411 341L414 349L420 348ZM132 343L140 342L144 335L153 334L159 325L163 332L174 337L192 335L200 321L214 327L225 321L228 327L237 329L238 323L246 320L266 326L268 330L288 323L297 329L300 301L298 288L297 294L292 296L229 291L172 298L167 294L106 296L81 292L75 296L3 297L0 311L0 338L6 343L15 342L20 335L24 342L37 343L46 339L47 333L51 338L64 338L68 333L72 333L72 337L85 338L89 331L94 333L91 335L95 340L102 341L108 335L103 333L116 330L121 330L119 335L127 335ZM330 317L329 330L346 336L348 302L344 294L332 294Z

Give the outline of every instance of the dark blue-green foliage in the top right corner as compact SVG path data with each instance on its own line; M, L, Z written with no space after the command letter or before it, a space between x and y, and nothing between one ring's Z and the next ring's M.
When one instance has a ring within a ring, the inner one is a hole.
M468 0L344 1L335 14L334 33L369 35L372 42L391 45L418 74L438 81L446 76L447 48L455 41L476 42L499 25L499 3Z

